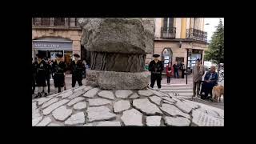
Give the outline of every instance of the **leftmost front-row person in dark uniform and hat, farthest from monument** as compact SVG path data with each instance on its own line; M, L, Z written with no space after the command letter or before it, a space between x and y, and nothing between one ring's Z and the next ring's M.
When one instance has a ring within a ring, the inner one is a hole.
M34 62L34 70L35 70L35 82L36 86L38 86L38 95L34 98L40 98L42 95L46 96L47 94L44 92L46 89L46 62L42 60L42 54L36 54L38 60Z

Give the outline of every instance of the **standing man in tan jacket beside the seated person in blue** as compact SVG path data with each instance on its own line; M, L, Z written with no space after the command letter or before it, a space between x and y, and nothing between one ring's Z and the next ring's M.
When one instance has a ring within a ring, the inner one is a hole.
M193 67L193 96L192 99L196 96L199 96L200 83L202 81L202 76L205 73L204 66L201 65L200 58L197 59L196 66Z

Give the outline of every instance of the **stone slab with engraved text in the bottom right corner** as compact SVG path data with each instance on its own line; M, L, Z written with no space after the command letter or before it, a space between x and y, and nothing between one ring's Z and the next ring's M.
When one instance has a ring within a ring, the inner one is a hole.
M202 110L192 110L192 122L196 126L224 126L224 119L215 118Z

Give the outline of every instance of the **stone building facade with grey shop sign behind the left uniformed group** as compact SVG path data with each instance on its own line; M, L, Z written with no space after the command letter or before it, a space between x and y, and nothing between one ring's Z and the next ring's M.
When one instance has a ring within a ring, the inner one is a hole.
M32 58L42 53L46 58L55 59L55 54L61 52L67 64L72 61L73 54L85 59L81 35L78 18L32 18Z

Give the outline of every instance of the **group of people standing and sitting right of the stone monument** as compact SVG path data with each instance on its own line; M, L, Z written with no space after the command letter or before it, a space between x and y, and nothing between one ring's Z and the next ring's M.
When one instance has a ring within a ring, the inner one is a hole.
M162 80L162 71L164 70L164 66L162 62L159 60L160 55L154 54L154 60L152 60L148 66L148 70L151 72L150 78L150 89L153 89L155 81L157 81L158 89L161 89L161 80ZM174 72L175 78L178 78L178 70L182 70L182 78L184 78L185 66L182 62L180 66L178 66L177 62L171 66L169 63L166 66L166 75L167 75L167 83L170 83L170 76ZM201 64L201 59L197 59L196 66L192 69L193 74L193 97L201 96L202 99L211 98L208 97L208 94L212 96L212 89L214 86L218 85L218 73L216 73L216 66L211 66L210 70L207 71L204 80L202 81L202 77L205 74L205 68ZM202 85L201 91L200 86ZM200 93L200 94L199 94ZM202 94L204 93L204 94Z

